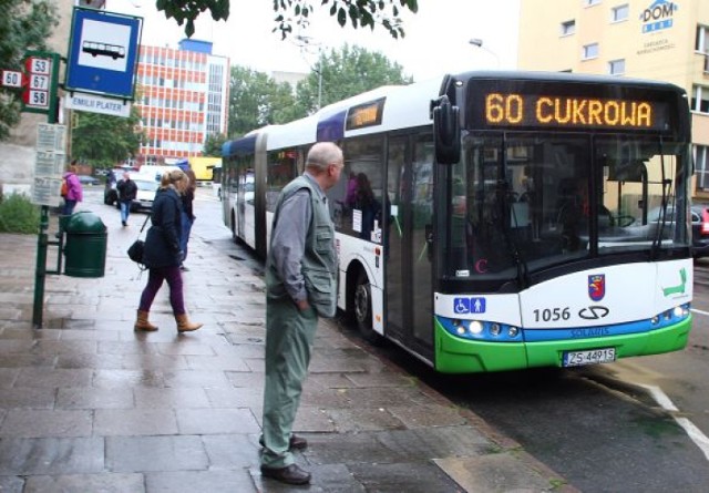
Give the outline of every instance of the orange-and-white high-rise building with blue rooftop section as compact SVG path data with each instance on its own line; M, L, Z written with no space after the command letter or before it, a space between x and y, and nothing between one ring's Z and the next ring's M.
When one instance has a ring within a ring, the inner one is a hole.
M212 43L185 39L178 49L141 45L135 105L146 135L138 164L201 156L207 136L226 134L229 60Z

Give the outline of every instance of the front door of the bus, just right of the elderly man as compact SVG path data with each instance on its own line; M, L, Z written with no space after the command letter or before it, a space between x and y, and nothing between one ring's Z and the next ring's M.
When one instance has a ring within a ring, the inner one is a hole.
M389 140L384 237L387 335L427 358L433 349L433 143L430 135Z

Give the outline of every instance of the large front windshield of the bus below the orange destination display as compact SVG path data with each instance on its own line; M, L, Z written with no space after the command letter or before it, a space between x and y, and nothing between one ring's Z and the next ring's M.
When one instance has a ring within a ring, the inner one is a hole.
M689 245L687 148L659 137L469 133L448 173L448 278L515 279Z

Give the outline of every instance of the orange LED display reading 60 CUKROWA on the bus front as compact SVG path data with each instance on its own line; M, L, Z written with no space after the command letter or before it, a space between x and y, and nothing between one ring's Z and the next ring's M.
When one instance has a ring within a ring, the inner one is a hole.
M657 101L493 92L484 123L515 127L667 130L667 104Z

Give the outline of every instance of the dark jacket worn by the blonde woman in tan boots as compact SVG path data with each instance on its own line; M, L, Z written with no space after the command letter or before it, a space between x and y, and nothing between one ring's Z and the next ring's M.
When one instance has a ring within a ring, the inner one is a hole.
M182 235L182 201L177 191L169 186L155 193L151 228L145 238L143 261L148 268L174 267L182 263L179 237Z

